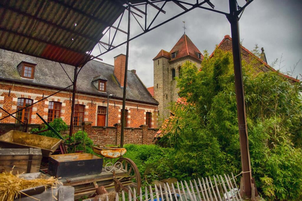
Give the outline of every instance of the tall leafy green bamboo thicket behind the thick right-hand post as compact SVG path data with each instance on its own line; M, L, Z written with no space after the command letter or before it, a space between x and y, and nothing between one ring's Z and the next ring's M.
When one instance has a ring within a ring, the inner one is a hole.
M178 170L191 176L241 171L236 95L230 53L205 53L202 70L186 62L177 78L188 104L161 141L178 148ZM302 85L243 62L252 175L267 200L302 199ZM172 142L172 143L171 143Z

